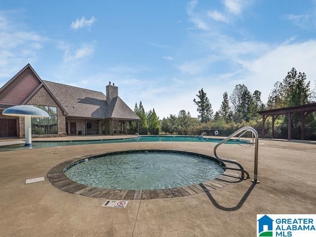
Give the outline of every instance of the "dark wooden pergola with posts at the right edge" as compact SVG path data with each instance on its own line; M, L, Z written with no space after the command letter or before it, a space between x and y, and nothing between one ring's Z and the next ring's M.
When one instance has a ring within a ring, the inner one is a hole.
M258 111L258 113L262 116L262 138L265 138L265 122L268 116L272 116L272 137L275 137L275 121L279 115L286 115L287 117L287 127L288 127L288 135L287 139L291 140L291 125L292 118L294 114L298 114L301 117L301 140L304 140L304 129L305 129L305 119L307 115L316 111L316 103L311 103L307 105L293 106L293 107L285 107L273 110L263 110Z

